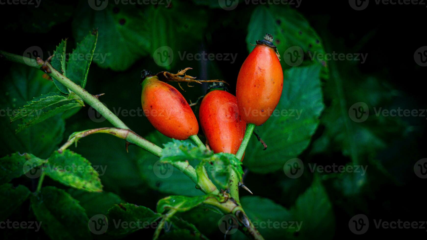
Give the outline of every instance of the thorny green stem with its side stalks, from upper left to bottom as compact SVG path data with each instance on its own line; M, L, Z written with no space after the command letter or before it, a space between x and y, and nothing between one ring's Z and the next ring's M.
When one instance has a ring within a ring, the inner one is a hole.
M91 95L85 89L83 89L82 87L80 87L79 85L71 81L69 78L66 78L56 69L54 69L47 61L44 62L44 61L41 61L41 59L34 60L31 58L26 58L20 55L15 55L15 54L11 54L9 52L4 52L0 50L0 59L1 58L5 58L6 60L13 61L20 64L26 64L30 67L35 67L35 68L43 67L44 71L47 72L47 74L50 77L55 78L65 87L67 87L68 89L70 89L71 91L79 95L79 97L81 97L83 101L85 101L95 110L97 110L102 116L104 116L105 119L107 119L111 124L114 125L115 127L114 129L116 131L120 133L124 133L124 131L129 130L125 138L128 142L134 143L135 145L149 151L150 153L155 154L156 156L161 156L161 147L158 147L157 145L152 144L151 142L147 141L146 139L143 139L142 137L134 133L132 130L130 130L129 127L127 127L126 124L123 123L123 121L121 121L114 113L112 113L107 107L105 107L105 105L102 104L96 96ZM74 136L72 134L70 136L70 139L68 139L68 141L59 150L64 150L67 147L69 147L73 143L71 142L73 139L76 141L77 139L79 139L80 136L84 137L92 133L105 133L106 129L107 128L101 128L101 129L93 130L93 132L90 132L91 130L86 130L82 132L77 132L76 135ZM109 128L109 129L113 129L113 128ZM246 146L248 145L249 138L250 138L250 135L252 134L253 129L254 129L254 125L252 124L251 126L251 124L248 124L246 133L245 133L245 138L243 139L242 145L240 146L239 151L237 152L237 154L239 155L236 154L237 157L241 155L240 159L242 158L243 153L246 149ZM249 130L250 130L250 133L249 133ZM200 139L197 136L191 136L190 139L192 139L199 147L206 148L205 145L203 145L202 141L200 141ZM200 143L202 143L202 146L200 145ZM219 194L218 189L216 189L215 185L213 185L213 183L208 178L204 179L205 181L199 181L201 179L198 178L196 170L188 162L174 162L173 166L175 168L178 168L181 172L183 172L187 176L189 176L190 179L193 182L195 182L197 186L206 194L209 194L209 193L216 194L216 195ZM36 192L39 192L41 190L44 176L45 176L45 173L42 173L38 182ZM237 182L233 185L236 185L238 188L238 183L239 181L237 180ZM213 187L215 187L214 191L211 191L212 185ZM235 188L234 188L233 193L237 195L234 195L234 196L231 195L231 196L237 197L238 199L238 189L237 191L235 191ZM231 199L228 199L226 202L207 201L205 203L218 207L219 209L221 209L221 211L224 214L229 214L229 213L235 214L240 224L242 224L243 226L243 232L248 237L256 240L263 240L263 237L260 235L257 229L253 226L253 224L249 221L249 218L246 216L245 212L243 211L243 208L240 206L240 204L237 204L235 200L233 201Z

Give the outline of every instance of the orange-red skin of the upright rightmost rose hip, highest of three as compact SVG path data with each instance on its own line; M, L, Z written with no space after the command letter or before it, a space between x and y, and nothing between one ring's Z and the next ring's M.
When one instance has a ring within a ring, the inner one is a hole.
M283 71L275 49L258 43L240 68L236 97L239 114L257 126L272 115L283 89Z

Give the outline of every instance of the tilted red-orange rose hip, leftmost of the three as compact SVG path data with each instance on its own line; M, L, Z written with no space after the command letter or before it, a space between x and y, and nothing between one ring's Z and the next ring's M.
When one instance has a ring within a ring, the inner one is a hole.
M165 136L185 140L199 132L199 124L184 96L175 87L147 77L142 82L141 104L150 123Z

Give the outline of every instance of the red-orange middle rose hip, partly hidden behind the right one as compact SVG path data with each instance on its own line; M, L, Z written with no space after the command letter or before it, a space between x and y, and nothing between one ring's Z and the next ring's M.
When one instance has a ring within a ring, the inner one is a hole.
M234 95L222 90L206 94L200 104L199 120L214 153L237 153L246 122L238 115Z

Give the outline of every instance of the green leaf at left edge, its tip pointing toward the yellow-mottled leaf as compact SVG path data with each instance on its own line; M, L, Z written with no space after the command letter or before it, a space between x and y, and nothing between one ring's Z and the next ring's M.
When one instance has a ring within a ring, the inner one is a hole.
M34 168L42 165L45 161L30 153L12 153L0 159L0 184L20 177Z

